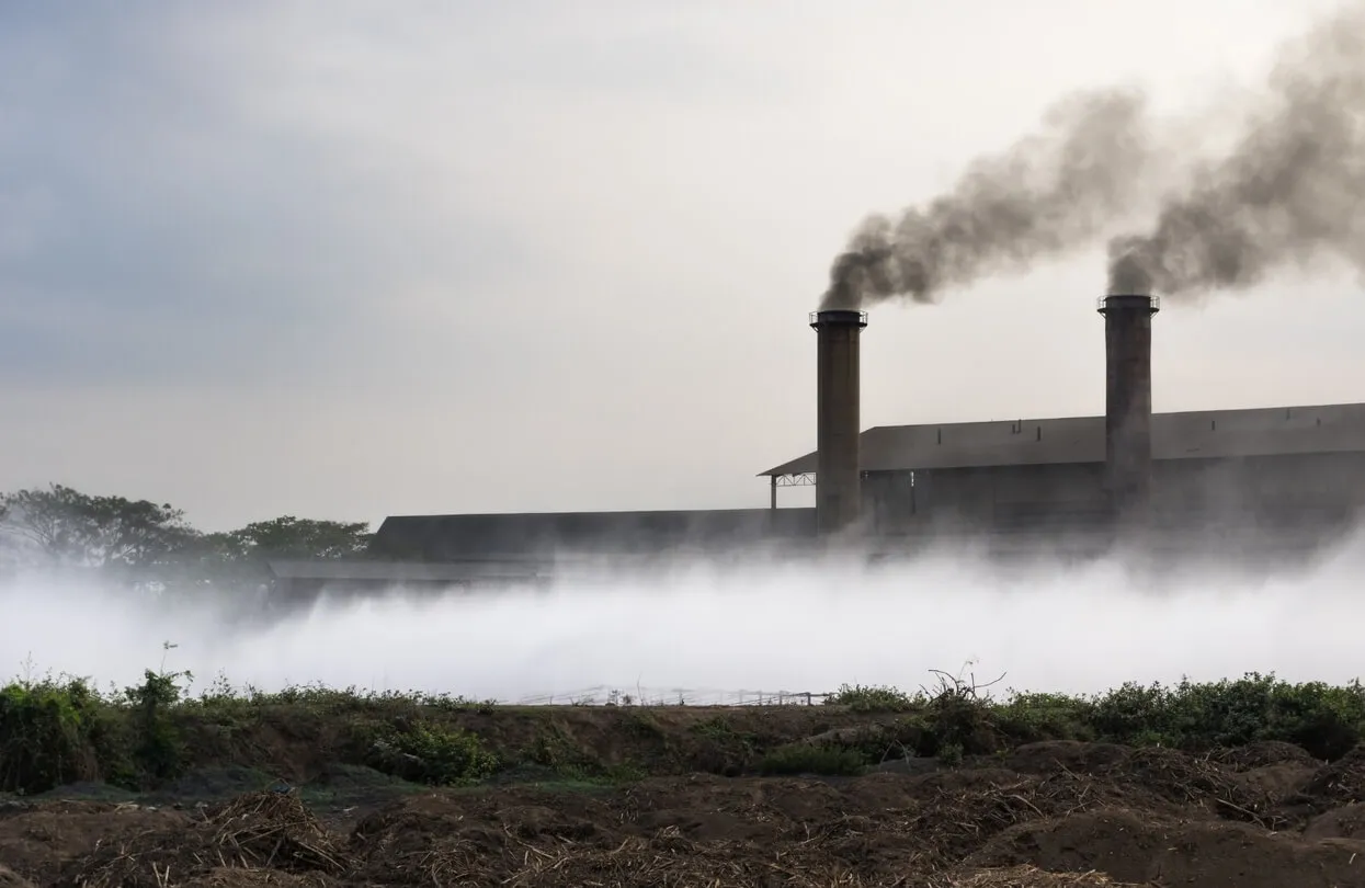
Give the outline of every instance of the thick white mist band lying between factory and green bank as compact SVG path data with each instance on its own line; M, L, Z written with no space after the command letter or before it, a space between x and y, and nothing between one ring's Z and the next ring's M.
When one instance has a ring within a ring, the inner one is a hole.
M191 670L195 692L222 675L262 690L536 702L601 702L607 689L696 704L844 682L915 689L968 662L979 682L1006 672L994 690L1248 671L1340 683L1365 671L1362 565L1360 536L1272 576L1216 562L1160 574L1117 559L1002 567L950 551L880 567L693 562L549 589L324 597L263 622L224 602L171 606L30 576L0 587L0 667L120 686L143 668Z

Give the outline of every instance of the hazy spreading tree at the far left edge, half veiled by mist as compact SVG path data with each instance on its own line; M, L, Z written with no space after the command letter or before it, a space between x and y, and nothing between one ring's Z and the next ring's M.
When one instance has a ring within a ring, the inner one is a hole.
M184 513L61 484L0 495L0 532L44 561L78 567L150 567L197 536Z

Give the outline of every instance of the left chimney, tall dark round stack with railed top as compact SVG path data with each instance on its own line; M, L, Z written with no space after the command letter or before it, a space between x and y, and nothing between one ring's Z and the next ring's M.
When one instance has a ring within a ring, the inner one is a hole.
M859 520L859 337L865 311L811 312L816 333L818 430L815 522L820 535L838 533Z

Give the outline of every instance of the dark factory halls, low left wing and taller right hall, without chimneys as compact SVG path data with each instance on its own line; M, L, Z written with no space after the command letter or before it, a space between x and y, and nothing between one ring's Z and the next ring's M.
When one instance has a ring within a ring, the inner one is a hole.
M870 428L859 447L868 542L894 552L954 535L1100 532L1112 518L1107 441L1104 416ZM1316 533L1365 506L1365 404L1155 413L1151 449L1152 524L1177 533ZM760 475L777 491L814 483L818 464L811 452ZM401 578L374 566L356 580L521 582L575 557L804 550L816 537L815 509L778 509L775 499L771 509L397 516L375 533L374 557L463 566ZM296 588L334 587L347 570L281 565Z

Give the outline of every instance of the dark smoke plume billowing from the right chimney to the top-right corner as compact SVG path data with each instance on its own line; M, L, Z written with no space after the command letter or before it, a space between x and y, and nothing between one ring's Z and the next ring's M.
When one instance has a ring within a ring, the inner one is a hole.
M1331 254L1365 269L1365 3L1286 46L1268 86L1230 156L1110 243L1110 293L1241 289Z

